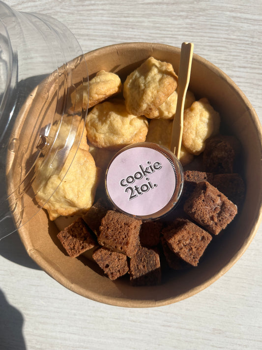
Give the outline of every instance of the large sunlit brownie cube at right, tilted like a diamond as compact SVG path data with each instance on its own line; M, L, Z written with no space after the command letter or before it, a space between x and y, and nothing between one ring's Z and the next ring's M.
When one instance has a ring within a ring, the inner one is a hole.
M237 207L222 192L203 181L185 201L184 211L208 232L217 235L232 222Z

